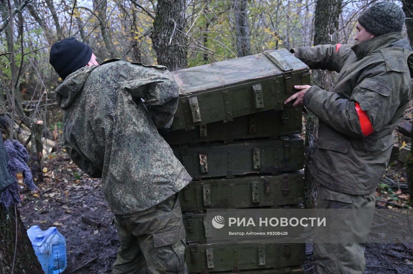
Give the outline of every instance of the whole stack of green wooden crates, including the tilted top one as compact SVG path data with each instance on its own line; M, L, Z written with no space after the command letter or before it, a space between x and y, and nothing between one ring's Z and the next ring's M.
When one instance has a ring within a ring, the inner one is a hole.
M284 104L309 68L286 49L173 72L178 110L164 138L193 181L179 193L189 273L304 273L304 244L207 244L210 208L298 208L301 107Z

